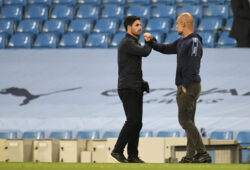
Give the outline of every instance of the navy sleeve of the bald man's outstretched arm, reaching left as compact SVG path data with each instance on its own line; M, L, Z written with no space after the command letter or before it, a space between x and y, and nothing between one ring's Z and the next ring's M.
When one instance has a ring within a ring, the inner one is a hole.
M159 51L160 53L177 54L177 42L178 40L170 44L160 44L157 43L157 40L155 38L153 38L151 39L149 44L155 51Z

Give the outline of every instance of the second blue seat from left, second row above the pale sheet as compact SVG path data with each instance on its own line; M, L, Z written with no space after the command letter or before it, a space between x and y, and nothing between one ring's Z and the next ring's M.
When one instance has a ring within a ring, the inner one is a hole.
M38 34L40 28L39 20L25 19L18 23L16 32L29 32L33 34Z

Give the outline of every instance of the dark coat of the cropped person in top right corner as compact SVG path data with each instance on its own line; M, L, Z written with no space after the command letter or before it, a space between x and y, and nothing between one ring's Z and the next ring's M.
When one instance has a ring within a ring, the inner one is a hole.
M234 14L230 37L246 39L250 37L250 4L248 0L231 0Z

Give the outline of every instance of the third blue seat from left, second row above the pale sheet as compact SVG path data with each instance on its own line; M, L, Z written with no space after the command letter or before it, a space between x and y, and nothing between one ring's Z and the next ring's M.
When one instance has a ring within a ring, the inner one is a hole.
M43 32L64 33L65 22L64 22L64 20L59 20L59 19L46 20L43 24L42 31Z

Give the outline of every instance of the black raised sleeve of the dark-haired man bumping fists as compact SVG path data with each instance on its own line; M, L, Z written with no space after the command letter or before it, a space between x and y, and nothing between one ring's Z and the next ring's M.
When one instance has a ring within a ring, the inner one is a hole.
M152 47L148 43L145 43L144 46L140 46L135 41L127 42L128 54L147 57L150 54L151 50Z

